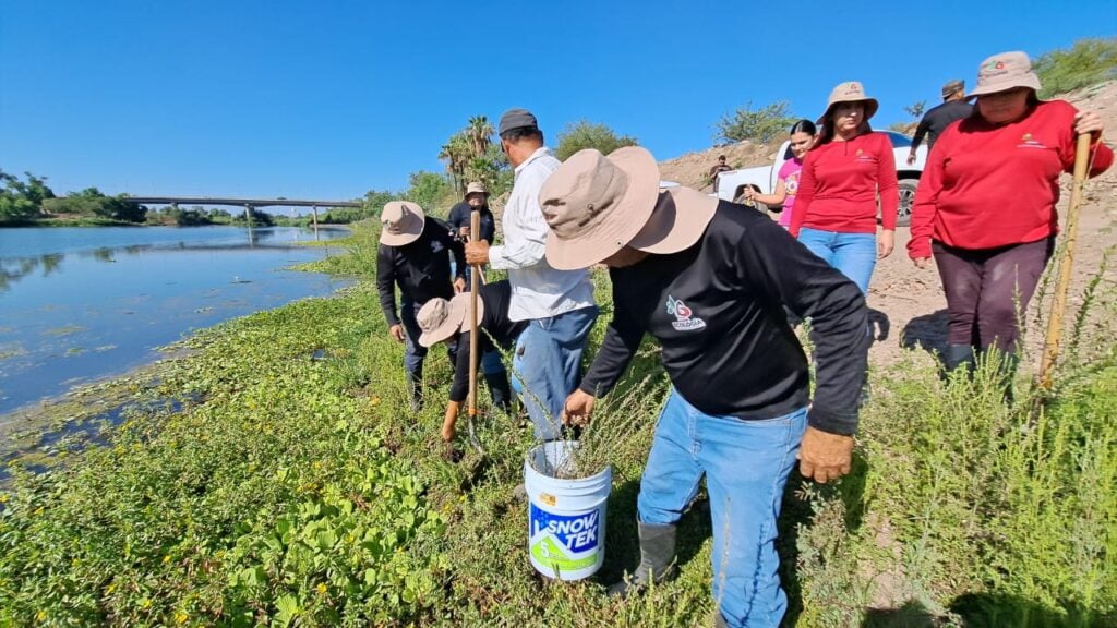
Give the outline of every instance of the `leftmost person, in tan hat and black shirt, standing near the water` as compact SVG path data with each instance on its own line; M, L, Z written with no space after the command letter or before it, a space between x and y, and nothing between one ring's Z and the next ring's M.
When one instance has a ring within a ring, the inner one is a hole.
M419 344L416 313L435 297L450 298L465 287L465 247L437 218L423 215L413 202L392 201L380 215L382 231L376 254L376 289L389 333L407 344L403 368L411 378L411 409L422 407L422 362L427 348ZM450 283L450 254L457 278ZM400 286L400 311L395 311L395 286ZM454 362L455 346L448 346Z

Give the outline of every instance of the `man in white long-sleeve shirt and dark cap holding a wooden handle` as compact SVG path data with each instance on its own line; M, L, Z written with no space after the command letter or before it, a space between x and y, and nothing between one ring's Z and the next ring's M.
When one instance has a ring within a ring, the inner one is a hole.
M504 245L471 241L466 246L466 261L508 270L508 317L529 321L516 342L512 384L524 399L535 437L555 440L563 403L577 387L582 350L598 318L598 306L586 270L555 270L544 258L550 229L538 196L560 161L543 144L535 116L509 110L500 116L498 131L500 146L516 169L500 218Z

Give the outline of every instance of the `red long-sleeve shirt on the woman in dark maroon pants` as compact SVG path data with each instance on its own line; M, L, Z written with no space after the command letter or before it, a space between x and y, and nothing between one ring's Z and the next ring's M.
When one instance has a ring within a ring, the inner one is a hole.
M958 121L935 142L911 208L908 256L930 257L930 240L985 249L1034 242L1059 231L1059 175L1075 168L1075 114L1065 101L1040 103L1022 120ZM1090 177L1113 150L1091 146Z

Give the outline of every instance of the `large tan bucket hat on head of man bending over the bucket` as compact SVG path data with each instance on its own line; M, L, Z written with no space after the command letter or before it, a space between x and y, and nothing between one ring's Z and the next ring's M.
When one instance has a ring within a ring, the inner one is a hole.
M659 197L659 165L640 146L605 156L594 149L571 155L540 191L551 227L547 264L588 268L624 248L643 229Z

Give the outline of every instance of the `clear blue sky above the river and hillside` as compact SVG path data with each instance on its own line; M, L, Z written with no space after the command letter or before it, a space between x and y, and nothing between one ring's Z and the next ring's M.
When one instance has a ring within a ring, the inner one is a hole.
M878 126L986 56L1117 34L1117 0L0 0L0 169L56 192L342 199L438 170L471 115L580 118L658 159L752 102Z

